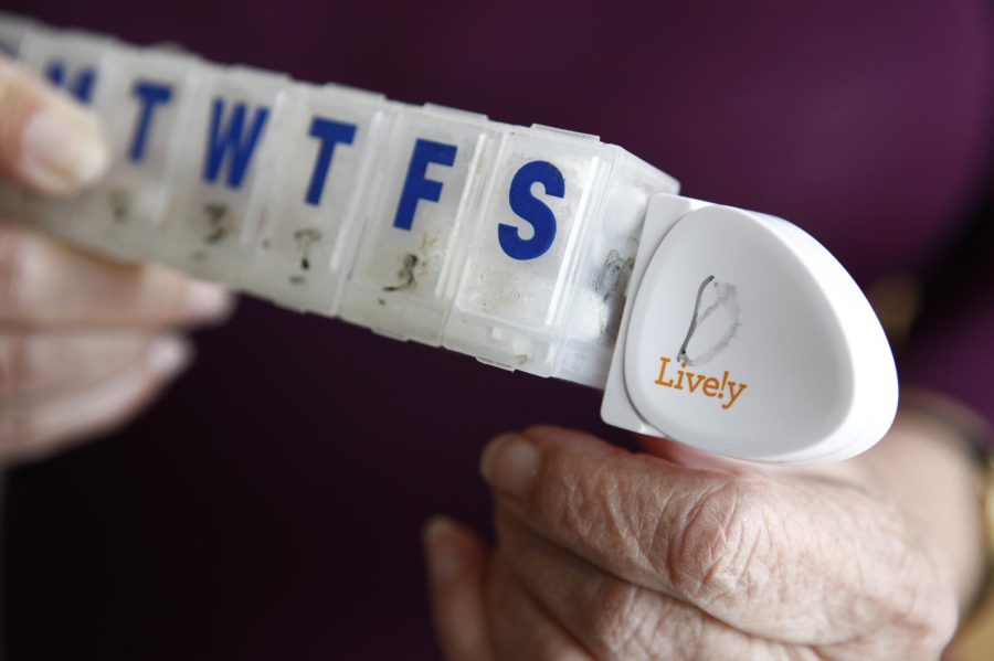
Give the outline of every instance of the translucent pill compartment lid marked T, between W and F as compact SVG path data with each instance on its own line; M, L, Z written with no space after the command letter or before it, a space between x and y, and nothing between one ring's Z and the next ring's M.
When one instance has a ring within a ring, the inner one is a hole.
M353 248L357 214L395 111L380 95L296 85L273 127L279 146L260 199L246 290L334 314ZM350 235L351 234L351 235Z

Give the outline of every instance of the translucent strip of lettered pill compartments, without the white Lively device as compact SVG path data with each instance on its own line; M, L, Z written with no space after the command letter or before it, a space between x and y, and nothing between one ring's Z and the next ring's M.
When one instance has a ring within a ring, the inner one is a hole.
M677 183L547 127L410 106L0 18L65 67L114 149L107 178L0 212L287 307L510 370L601 386L647 199Z

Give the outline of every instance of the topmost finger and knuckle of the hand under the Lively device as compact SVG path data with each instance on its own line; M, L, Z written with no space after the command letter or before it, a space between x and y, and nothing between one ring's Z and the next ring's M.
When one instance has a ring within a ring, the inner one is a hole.
M827 643L927 622L945 598L903 515L855 488L690 469L550 427L497 439L482 470L551 542L757 636Z

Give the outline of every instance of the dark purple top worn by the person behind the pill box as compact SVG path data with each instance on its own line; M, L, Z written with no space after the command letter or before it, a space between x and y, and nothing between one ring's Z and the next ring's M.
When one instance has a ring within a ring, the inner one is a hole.
M688 195L793 220L863 284L990 262L988 224L967 228L988 217L983 0L135 7L8 9L599 134ZM972 262L948 257L962 244ZM907 373L991 414L994 307L959 270L937 280L955 302L930 316ZM950 341L974 349L950 359ZM484 443L537 422L625 440L594 391L253 300L198 344L124 433L10 473L9 658L437 658L419 530L436 511L486 525Z

